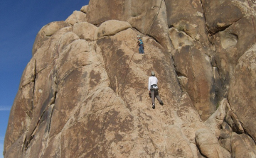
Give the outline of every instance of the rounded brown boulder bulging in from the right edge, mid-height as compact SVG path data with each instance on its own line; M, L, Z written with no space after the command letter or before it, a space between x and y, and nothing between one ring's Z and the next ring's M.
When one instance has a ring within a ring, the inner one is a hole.
M256 140L256 115L255 115L255 45L245 52L235 67L233 81L230 84L229 100L230 106L243 128Z

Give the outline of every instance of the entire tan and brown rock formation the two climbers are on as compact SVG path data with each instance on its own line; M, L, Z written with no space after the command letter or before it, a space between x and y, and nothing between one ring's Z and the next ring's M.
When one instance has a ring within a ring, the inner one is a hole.
M255 7L91 0L49 23L23 72L4 157L256 157Z

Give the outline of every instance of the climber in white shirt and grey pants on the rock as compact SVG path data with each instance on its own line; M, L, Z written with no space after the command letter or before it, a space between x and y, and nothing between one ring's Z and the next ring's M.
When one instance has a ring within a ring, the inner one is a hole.
M155 73L151 72L151 77L149 77L149 97L151 97L152 99L152 108L155 108L155 97L157 98L157 100L159 101L159 103L161 104L161 106L164 106L163 101L161 101L161 98L159 96L159 89L157 86L157 78L155 77Z

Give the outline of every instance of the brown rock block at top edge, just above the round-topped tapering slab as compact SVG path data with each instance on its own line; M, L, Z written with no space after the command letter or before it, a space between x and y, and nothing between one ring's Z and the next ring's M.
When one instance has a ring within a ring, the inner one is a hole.
M176 28L193 40L209 45L201 1L166 0L165 3L169 28Z

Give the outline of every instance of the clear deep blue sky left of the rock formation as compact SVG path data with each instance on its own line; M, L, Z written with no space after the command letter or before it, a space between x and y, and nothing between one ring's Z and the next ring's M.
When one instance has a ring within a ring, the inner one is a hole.
M9 113L36 34L46 24L65 21L89 0L0 1L0 158Z

